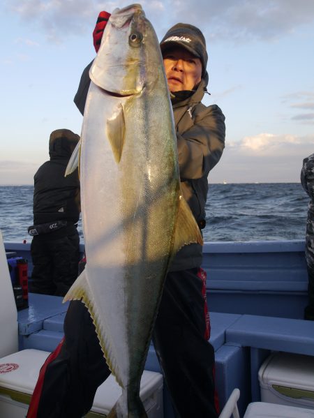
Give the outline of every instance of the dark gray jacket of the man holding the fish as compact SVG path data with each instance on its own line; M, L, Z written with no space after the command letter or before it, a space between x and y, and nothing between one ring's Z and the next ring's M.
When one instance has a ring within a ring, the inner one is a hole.
M83 71L74 102L82 114L89 89L90 63ZM217 105L201 103L206 91L205 74L195 91L180 92L172 99L177 131L181 191L202 229L205 223L205 204L208 192L207 176L218 163L225 147L225 117ZM183 93L183 94L181 94ZM181 99L180 99L181 97ZM202 246L184 246L174 257L170 271L200 267Z

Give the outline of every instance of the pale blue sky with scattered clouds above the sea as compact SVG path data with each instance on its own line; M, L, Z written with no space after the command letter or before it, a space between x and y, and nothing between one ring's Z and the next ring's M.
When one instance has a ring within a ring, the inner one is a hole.
M52 130L80 134L73 103L95 57L98 13L129 1L2 0L0 184L33 184ZM314 0L144 0L161 40L178 22L207 40L203 103L225 114L209 183L299 182L314 153Z

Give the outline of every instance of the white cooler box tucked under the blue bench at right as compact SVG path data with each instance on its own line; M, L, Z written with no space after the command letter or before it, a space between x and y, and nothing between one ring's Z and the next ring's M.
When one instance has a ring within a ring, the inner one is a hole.
M262 402L314 410L314 357L275 352L260 367L258 380Z

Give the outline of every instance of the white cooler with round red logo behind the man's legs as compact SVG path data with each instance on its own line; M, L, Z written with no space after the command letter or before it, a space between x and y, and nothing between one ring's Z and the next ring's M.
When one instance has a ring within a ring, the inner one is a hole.
M0 359L0 417L24 418L40 367L50 352L22 350ZM86 417L105 417L121 394L112 375L98 387L93 408ZM163 418L163 376L144 371L140 396L149 418Z

